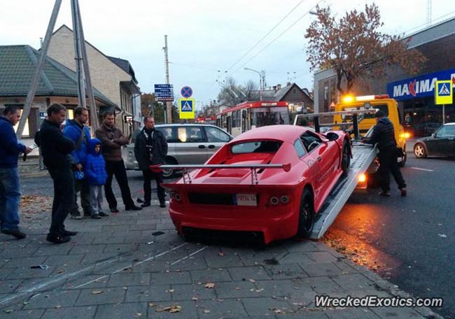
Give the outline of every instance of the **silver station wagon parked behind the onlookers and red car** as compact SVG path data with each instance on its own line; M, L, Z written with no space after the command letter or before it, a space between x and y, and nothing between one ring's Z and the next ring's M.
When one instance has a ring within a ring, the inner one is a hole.
M159 124L155 129L162 132L167 139L166 164L203 164L211 155L225 143L232 140L232 136L223 129L214 125L203 124ZM141 130L134 133L132 143L123 149L123 160L126 169L138 170L134 157L134 138ZM174 175L174 171L163 171L165 178Z

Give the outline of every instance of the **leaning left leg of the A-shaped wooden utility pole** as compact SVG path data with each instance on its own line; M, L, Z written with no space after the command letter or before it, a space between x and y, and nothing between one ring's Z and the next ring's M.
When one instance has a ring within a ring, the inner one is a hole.
M41 71L43 71L44 66L44 59L48 53L50 37L52 36L52 32L54 31L55 21L57 20L57 15L60 10L60 5L62 4L62 0L55 0L54 9L52 10L52 15L50 15L50 20L48 24L48 30L45 32L43 46L41 47L41 55L38 59L38 64L36 65L35 73L33 76L33 81L31 82L30 90L27 94L27 98L25 99L24 109L22 110L22 115L20 117L18 131L16 131L16 136L20 139L22 137L22 132L24 132L25 122L27 122L27 118L30 114L31 103L35 97L36 87L38 87L38 80L41 76Z

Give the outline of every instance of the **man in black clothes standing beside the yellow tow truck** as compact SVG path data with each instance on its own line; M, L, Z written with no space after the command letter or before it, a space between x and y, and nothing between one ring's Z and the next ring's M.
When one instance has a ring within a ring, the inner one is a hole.
M364 139L365 143L375 144L379 149L379 174L381 176L381 196L390 196L390 173L392 173L401 196L406 196L406 183L400 172L397 161L397 148L395 141L395 131L393 123L386 118L384 112L377 111L374 114L376 125L369 139Z

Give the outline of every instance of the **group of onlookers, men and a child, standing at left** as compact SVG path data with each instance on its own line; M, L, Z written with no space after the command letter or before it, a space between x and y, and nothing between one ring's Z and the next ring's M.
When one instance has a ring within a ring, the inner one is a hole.
M68 215L75 220L86 217L100 219L110 213L118 213L118 201L112 190L116 177L125 205L125 211L139 211L151 206L151 180L158 188L160 207L166 207L165 190L161 187L162 173L151 171L151 164L164 164L167 155L165 136L155 130L155 120L144 118L144 128L139 132L134 145L134 155L144 176L144 204L136 206L131 197L125 163L121 148L129 141L114 124L114 113L102 114L102 125L94 132L86 125L88 110L78 106L74 118L66 119L66 108L52 104L47 110L41 129L34 141L41 150L43 162L54 185L52 218L47 240L66 243L77 232L65 228ZM15 136L14 125L20 119L20 109L7 106L0 117L0 222L1 232L23 239L27 236L19 228L20 223L20 178L18 156L30 153L31 148L20 143ZM109 212L103 209L103 187ZM78 193L80 206L78 206Z

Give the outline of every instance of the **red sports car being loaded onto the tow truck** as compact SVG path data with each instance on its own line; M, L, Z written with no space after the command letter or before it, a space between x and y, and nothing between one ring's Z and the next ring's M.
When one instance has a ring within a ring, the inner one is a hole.
M311 234L316 213L350 159L344 132L273 125L237 136L204 165L163 165L183 169L183 178L163 186L179 234L254 232L269 243Z

